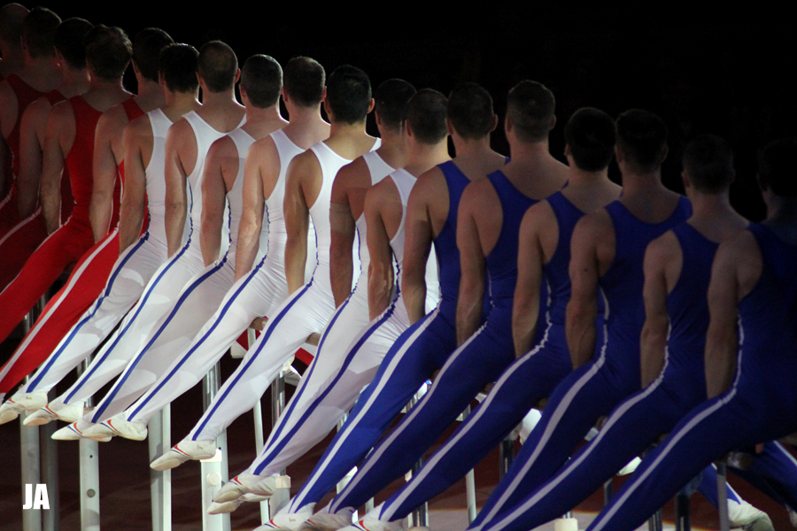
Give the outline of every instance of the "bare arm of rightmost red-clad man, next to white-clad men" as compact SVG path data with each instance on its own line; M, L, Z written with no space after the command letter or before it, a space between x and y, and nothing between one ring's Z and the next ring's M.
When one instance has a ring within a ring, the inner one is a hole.
M123 126L112 118L112 112L105 112L97 122L94 136L94 184L91 189L89 220L94 233L94 241L99 242L111 228L113 213L113 188L119 179L119 161L113 152L113 139L123 134Z

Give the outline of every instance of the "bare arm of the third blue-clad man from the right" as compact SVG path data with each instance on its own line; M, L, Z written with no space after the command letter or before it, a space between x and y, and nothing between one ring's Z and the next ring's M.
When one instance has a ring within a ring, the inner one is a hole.
M598 280L596 233L592 216L581 219L570 242L570 301L565 320L573 368L583 366L595 350L595 319L598 317Z

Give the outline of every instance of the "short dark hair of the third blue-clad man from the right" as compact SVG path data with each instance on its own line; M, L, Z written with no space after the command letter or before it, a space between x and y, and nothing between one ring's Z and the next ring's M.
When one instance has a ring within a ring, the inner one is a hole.
M617 117L617 147L640 172L652 172L662 165L667 134L667 124L653 112L631 109Z

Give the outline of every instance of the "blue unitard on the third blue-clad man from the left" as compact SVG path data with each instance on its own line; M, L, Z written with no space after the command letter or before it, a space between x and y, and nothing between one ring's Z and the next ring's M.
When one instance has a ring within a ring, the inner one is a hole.
M543 266L549 300L542 339L507 368L476 412L411 481L385 502L379 519L405 518L415 507L458 481L517 426L539 399L550 395L572 371L564 330L565 309L570 298L570 238L584 212L561 192L548 197L547 202L556 216L559 241L553 256Z

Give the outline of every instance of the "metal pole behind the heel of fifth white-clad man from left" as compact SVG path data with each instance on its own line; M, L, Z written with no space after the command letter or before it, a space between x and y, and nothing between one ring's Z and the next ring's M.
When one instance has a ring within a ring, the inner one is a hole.
M221 369L219 364L205 374L202 381L204 392L204 409L213 402L213 396L219 391L221 384ZM221 489L221 481L227 479L227 435L222 434L216 439L216 455L213 458L202 459L199 466L202 478L202 529L204 531L230 531L229 513L208 514L213 497Z

